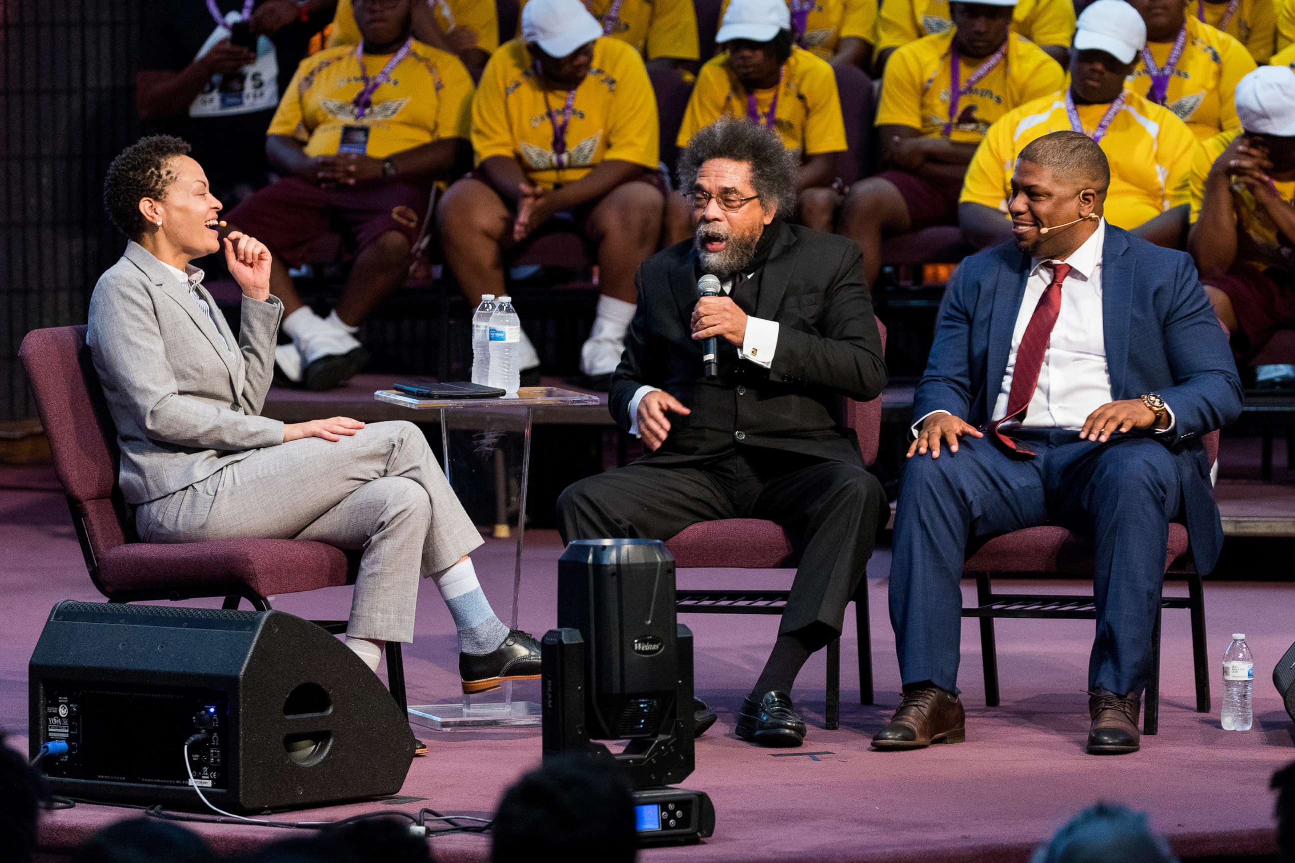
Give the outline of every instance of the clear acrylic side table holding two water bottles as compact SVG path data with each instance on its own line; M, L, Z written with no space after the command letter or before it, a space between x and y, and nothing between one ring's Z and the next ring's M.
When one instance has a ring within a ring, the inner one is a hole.
M508 621L510 628L517 629L526 485L531 467L531 421L536 410L548 413L572 405L597 405L598 397L557 387L522 387L515 395L499 399L418 399L395 389L378 389L373 397L412 411L438 411L442 462L451 488L460 496L469 489L493 488L493 534L496 538L514 538L517 543ZM409 721L442 731L540 723L540 705L514 701L512 682L505 682L497 694L486 694L484 697L500 700L464 695L452 703L409 705Z

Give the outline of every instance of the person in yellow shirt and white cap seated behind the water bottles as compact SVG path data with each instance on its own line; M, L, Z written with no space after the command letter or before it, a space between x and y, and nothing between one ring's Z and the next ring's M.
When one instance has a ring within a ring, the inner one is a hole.
M602 38L580 0L531 0L522 38L495 52L473 101L477 167L436 212L445 261L469 301L506 292L509 247L541 226L575 226L597 248L602 291L580 371L610 375L635 313L635 270L660 241L659 135L635 49ZM523 375L539 362L522 333Z

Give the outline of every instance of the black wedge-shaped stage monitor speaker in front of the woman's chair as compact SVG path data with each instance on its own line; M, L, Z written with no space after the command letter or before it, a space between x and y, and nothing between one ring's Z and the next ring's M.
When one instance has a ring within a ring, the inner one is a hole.
M285 809L392 794L404 713L360 657L284 612L65 600L31 656L31 752L56 794Z

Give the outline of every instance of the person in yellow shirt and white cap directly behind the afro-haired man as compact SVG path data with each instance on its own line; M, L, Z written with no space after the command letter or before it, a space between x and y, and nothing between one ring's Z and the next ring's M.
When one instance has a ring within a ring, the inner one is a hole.
M847 149L837 75L825 61L793 43L785 0L733 0L715 41L724 52L702 66L688 102L679 146L721 116L745 116L778 133L800 163L796 173L802 224L831 230L839 193L837 154ZM783 219L791 213L783 212ZM692 207L671 202L670 242L692 235Z

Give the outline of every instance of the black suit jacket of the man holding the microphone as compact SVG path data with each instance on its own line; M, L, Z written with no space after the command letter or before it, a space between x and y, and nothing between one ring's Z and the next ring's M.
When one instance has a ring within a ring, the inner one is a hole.
M644 384L692 409L688 417L670 414L670 436L649 458L690 462L756 446L861 463L857 439L840 423L842 396L875 399L886 386L886 360L859 246L781 221L771 229L780 235L759 273L755 311L780 323L771 369L721 349L719 378L703 377L702 343L690 326L692 241L638 268L638 308L611 377L611 415L628 430L629 402Z

